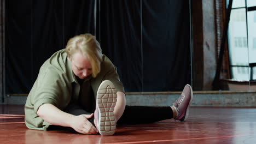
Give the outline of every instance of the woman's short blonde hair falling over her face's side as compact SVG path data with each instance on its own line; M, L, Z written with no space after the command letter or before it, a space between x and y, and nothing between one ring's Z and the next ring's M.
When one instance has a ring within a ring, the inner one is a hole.
M101 71L102 50L96 38L89 34L80 34L68 40L66 50L69 58L76 52L81 52L89 58L92 67L92 77L96 77Z

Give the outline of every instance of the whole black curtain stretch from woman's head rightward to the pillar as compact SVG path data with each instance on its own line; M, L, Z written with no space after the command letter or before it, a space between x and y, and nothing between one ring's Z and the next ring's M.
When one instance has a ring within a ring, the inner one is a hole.
M182 91L190 83L189 1L101 1L100 8L101 45L126 91Z

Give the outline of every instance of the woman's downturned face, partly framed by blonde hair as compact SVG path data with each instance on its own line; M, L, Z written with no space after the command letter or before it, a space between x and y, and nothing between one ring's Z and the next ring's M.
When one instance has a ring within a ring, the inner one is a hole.
M73 73L80 79L85 79L87 76L92 74L91 62L87 56L77 52L74 53L72 58L69 58L69 60L71 61Z

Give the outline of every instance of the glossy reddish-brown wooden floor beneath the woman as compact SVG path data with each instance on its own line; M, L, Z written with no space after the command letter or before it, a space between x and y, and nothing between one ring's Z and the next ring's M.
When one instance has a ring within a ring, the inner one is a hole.
M191 107L185 123L123 125L113 136L27 129L24 106L0 113L0 143L256 143L255 108Z

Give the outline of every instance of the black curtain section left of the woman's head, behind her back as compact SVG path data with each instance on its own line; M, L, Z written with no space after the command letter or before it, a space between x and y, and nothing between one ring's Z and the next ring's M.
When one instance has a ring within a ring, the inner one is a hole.
M41 65L69 38L94 34L94 1L8 0L6 92L29 93Z

